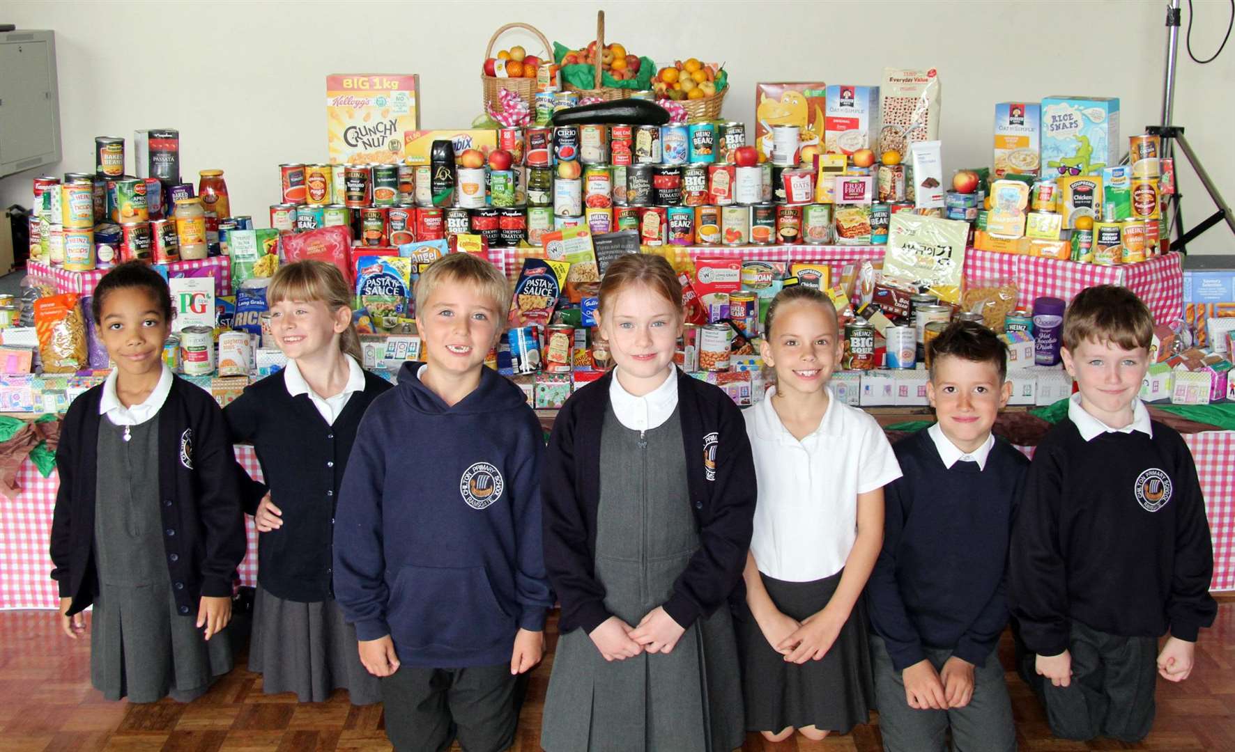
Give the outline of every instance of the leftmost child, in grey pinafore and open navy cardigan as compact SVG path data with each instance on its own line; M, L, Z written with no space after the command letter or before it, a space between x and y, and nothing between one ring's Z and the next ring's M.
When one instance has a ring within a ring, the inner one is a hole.
M93 306L116 368L69 406L56 453L62 626L78 638L94 605L90 680L109 700L186 703L232 668L226 626L245 557L236 458L215 400L163 363L167 282L120 264Z

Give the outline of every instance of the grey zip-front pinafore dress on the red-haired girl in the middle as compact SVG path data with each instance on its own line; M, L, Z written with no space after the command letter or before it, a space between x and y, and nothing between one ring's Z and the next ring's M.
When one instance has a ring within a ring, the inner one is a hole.
M609 612L636 626L699 548L678 411L641 440L610 406L600 456L595 577ZM669 654L606 662L582 629L558 640L541 736L548 752L719 752L743 738L727 605L690 625Z

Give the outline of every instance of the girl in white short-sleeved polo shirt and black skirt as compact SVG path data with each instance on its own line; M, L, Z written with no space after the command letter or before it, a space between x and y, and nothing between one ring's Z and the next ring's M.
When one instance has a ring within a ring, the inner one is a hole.
M861 595L900 466L874 419L827 388L839 330L823 293L782 290L762 346L776 385L745 412L758 504L736 626L746 727L769 741L845 733L873 706Z

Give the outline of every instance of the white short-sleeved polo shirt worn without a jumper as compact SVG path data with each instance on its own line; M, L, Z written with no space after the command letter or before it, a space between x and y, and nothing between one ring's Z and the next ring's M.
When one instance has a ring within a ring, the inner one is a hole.
M758 501L751 552L763 574L813 582L845 567L857 540L857 495L900 477L883 428L827 389L824 419L798 441L772 407L776 388L743 412Z

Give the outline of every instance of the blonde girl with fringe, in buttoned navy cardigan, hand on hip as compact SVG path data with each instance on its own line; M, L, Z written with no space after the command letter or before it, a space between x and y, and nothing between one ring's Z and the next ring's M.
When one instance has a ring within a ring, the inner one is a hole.
M361 417L390 384L361 369L337 267L284 265L266 298L288 364L224 409L232 442L252 442L266 479L241 472L245 511L261 533L248 667L267 694L324 703L342 688L368 705L382 699L378 678L361 664L356 627L333 598L335 509Z

